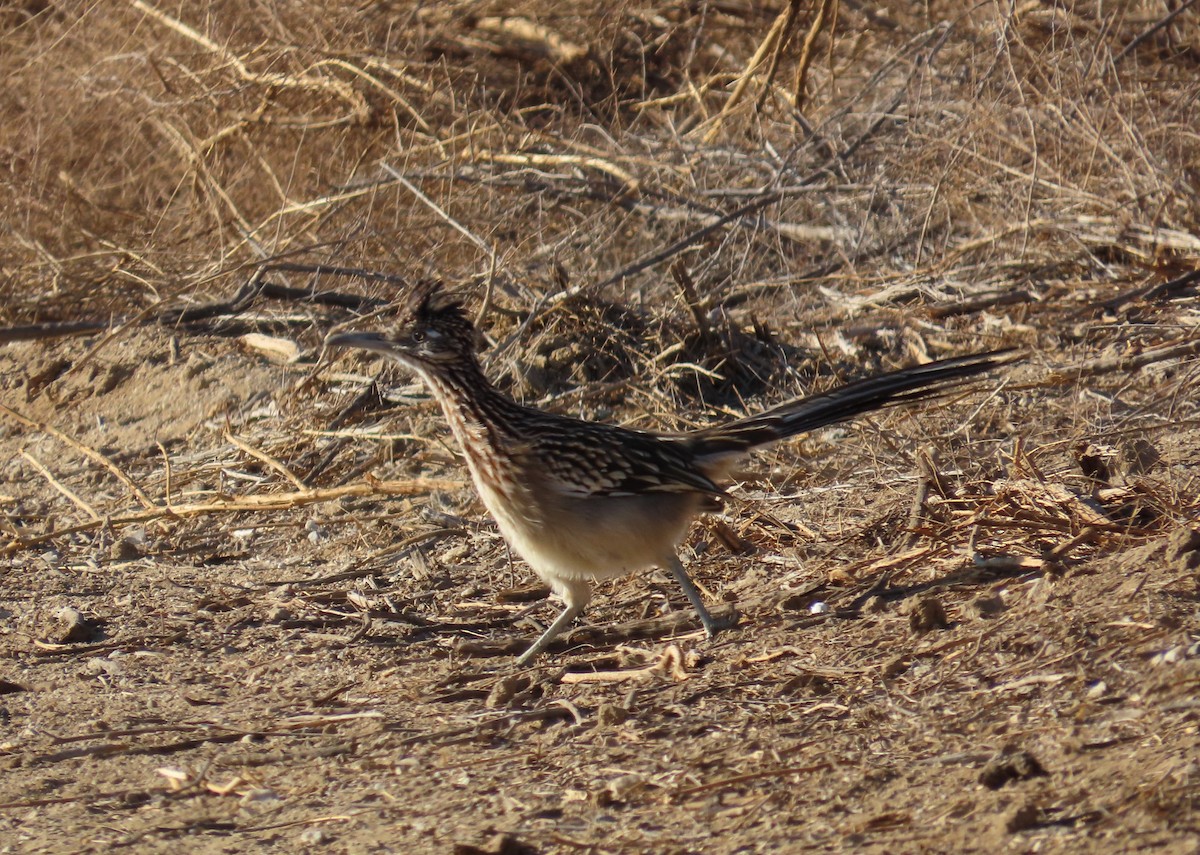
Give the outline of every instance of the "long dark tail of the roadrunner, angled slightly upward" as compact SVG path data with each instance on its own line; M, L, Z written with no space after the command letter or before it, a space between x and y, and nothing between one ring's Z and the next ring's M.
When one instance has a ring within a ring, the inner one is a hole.
M863 413L942 396L976 375L1021 358L1020 353L1009 348L940 359L854 381L832 391L788 401L757 415L707 427L689 434L688 441L700 458L744 454Z

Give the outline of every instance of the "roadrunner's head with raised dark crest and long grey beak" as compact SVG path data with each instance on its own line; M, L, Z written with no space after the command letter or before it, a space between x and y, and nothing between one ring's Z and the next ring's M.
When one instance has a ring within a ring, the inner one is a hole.
M325 339L326 347L374 351L410 369L432 372L474 363L476 342L475 325L462 301L438 282L413 289L390 331L336 333Z

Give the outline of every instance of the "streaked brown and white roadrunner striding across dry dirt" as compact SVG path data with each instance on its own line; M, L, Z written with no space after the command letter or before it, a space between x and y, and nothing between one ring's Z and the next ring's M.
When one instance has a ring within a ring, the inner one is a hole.
M476 342L462 304L437 285L413 292L391 333L341 333L325 341L382 353L420 376L504 538L565 603L518 665L582 614L592 582L654 566L671 570L709 636L727 628L736 618L713 618L676 548L691 520L724 495L721 483L740 459L863 413L936 397L1013 359L1009 351L943 359L728 424L655 434L516 403L484 375Z

